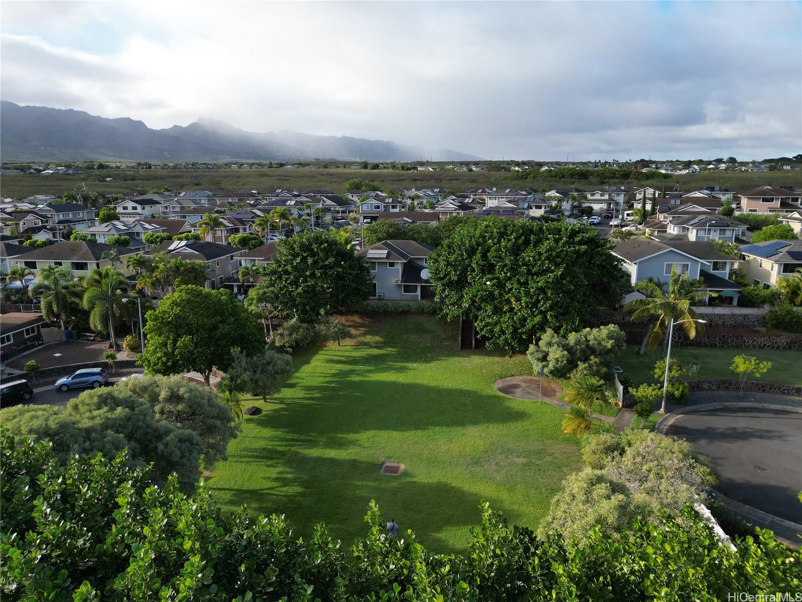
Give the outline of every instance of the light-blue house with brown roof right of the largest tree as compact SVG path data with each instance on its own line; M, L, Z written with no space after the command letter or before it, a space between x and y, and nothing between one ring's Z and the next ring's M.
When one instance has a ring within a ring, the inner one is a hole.
M668 283L672 273L701 278L708 291L715 291L733 305L738 304L741 286L729 279L738 259L723 254L712 242L656 241L630 238L619 242L613 254L622 259L622 268L630 274L634 286L641 280Z

